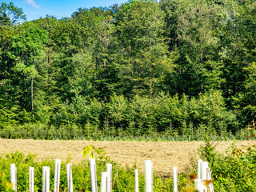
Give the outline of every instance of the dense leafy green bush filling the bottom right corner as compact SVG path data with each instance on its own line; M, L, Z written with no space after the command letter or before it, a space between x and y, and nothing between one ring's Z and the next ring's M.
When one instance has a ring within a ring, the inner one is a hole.
M226 154L214 151L214 144L206 142L201 146L201 158L209 161L214 190L254 191L255 190L255 146L250 144L240 148L233 146Z

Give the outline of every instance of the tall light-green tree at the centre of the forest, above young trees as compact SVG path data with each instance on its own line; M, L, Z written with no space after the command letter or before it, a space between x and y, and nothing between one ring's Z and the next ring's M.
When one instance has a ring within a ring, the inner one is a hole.
M157 2L130 1L115 16L121 50L114 61L118 89L125 96L152 96L166 74L167 46L162 42L164 14Z

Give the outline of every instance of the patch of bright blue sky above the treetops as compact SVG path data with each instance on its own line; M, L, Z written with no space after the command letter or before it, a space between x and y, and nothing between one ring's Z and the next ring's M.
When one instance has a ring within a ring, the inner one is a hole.
M28 21L44 18L46 14L56 18L70 17L79 7L90 8L93 6L121 5L126 0L0 0L2 2L14 2L15 6L23 9Z

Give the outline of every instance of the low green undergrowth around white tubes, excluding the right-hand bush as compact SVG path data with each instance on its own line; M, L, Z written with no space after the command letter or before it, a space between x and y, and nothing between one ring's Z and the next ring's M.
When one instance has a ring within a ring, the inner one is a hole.
M104 156L104 155L102 155ZM0 165L2 166L0 186L4 184L6 187L5 191L10 190L10 163L15 163L17 167L17 178L18 178L18 191L26 191L29 187L29 167L34 167L34 191L42 191L42 166L50 166L50 190L54 188L54 160L43 160L42 162L37 162L34 160L35 155L29 154L25 156L21 153L14 154L1 154ZM68 160L67 160L68 161ZM60 174L60 190L67 190L66 181L66 162L62 162L61 174ZM97 179L98 188L100 187L100 176L102 171L106 170L106 162L110 162L113 165L112 177L113 177L113 191L131 191L134 190L134 169L136 166L122 167L118 163L106 161L106 158L97 158ZM73 173L73 183L75 191L90 191L90 163L89 161L83 161L78 164L72 165ZM188 178L187 174L181 174L179 179L182 183L179 183L179 189L184 189L186 187L186 180ZM144 175L138 175L139 190L144 191ZM154 190L155 191L170 191L172 189L172 178L161 178L154 174ZM5 189L5 188L1 188Z

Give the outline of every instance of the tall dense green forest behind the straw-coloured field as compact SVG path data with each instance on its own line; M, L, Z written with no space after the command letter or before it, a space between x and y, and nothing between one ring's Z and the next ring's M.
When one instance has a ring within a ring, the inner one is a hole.
M255 98L254 0L0 6L1 138L243 138Z

